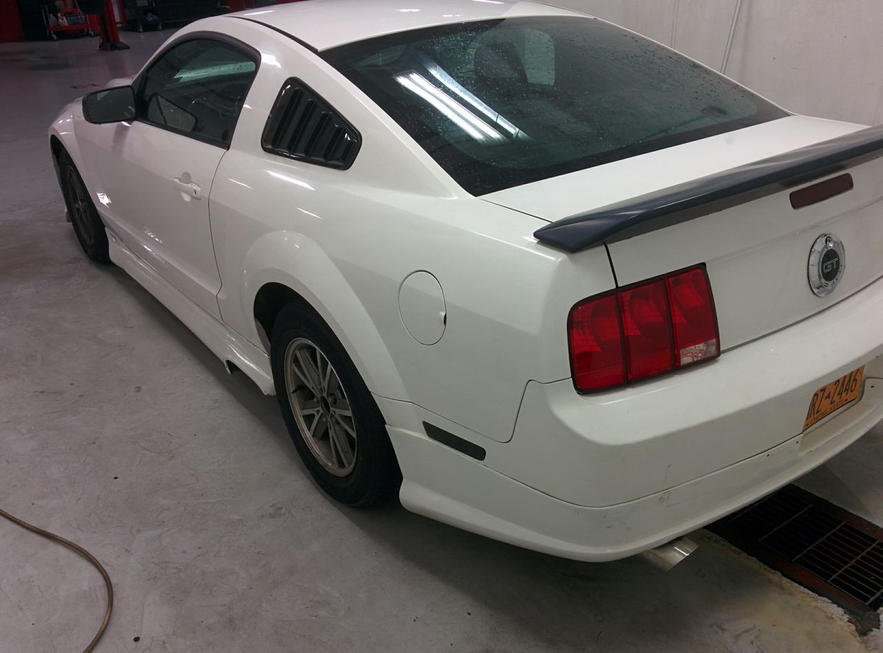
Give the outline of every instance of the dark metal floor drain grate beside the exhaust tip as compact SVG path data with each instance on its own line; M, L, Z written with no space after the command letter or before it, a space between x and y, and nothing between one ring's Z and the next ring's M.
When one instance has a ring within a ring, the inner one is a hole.
M883 529L795 485L707 529L860 620L883 604Z

